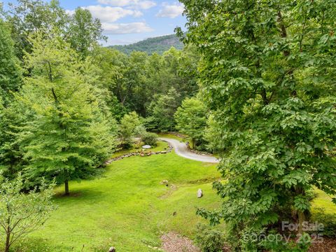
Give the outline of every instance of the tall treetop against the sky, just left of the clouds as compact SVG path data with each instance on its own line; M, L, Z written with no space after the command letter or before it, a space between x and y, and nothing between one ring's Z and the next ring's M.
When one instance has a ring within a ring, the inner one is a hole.
M92 18L90 10L76 8L69 22L69 43L83 58L87 57L98 41L106 41L99 19Z

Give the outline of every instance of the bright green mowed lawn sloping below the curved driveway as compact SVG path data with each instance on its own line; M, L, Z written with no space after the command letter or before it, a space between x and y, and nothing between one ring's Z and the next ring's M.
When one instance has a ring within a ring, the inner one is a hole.
M197 207L214 209L220 200L211 182L214 165L187 160L174 152L113 162L103 176L71 182L71 197L56 188L57 211L13 251L155 251L162 233L193 238L202 218ZM169 181L169 186L160 184ZM204 197L197 198L202 188ZM173 213L176 213L173 215Z

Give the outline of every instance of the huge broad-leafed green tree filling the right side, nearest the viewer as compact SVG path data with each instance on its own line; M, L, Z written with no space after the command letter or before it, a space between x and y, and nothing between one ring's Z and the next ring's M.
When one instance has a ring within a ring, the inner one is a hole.
M214 184L223 207L199 213L231 223L236 235L290 217L302 233L307 191L336 194L335 1L181 2L226 150L226 182Z

